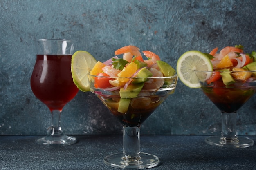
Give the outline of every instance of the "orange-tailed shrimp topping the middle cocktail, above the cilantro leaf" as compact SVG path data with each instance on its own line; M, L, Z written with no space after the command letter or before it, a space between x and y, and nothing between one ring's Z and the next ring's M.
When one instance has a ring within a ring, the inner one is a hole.
M132 57L136 56L136 57L141 57L141 53L139 52L139 48L136 46L124 46L120 49L117 49L115 51L115 55L120 55L120 54L124 54L123 55L123 59L128 61L128 62L132 62Z

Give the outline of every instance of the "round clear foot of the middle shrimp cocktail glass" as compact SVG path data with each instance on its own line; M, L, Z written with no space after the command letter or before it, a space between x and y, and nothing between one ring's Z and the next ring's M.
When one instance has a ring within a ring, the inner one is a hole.
M108 166L123 169L146 169L157 166L160 160L157 156L148 153L140 153L138 157L124 156L123 153L108 155L104 158Z

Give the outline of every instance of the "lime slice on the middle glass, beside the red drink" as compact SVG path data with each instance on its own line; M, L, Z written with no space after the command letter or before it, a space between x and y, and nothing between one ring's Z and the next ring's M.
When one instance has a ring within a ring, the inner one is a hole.
M71 59L71 73L73 81L79 90L90 91L87 74L96 64L95 58L87 51L76 51Z

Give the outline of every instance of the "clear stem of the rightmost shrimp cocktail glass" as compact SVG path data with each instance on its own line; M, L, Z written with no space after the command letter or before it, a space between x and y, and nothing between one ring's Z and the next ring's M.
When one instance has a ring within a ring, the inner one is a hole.
M223 140L237 140L236 137L236 113L222 112L222 137Z

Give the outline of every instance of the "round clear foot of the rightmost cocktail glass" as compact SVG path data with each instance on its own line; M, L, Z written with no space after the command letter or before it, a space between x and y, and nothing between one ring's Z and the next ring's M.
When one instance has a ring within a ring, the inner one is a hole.
M228 148L247 148L253 146L254 141L248 137L227 138L223 136L211 136L204 140L207 144Z

